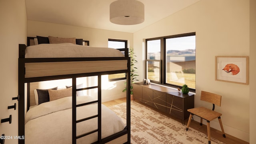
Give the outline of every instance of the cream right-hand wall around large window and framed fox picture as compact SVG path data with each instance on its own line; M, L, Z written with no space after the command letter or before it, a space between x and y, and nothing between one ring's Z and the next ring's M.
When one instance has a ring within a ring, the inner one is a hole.
M223 114L225 132L249 142L249 85L215 80L215 56L251 56L249 0L201 0L135 32L139 79L145 77L144 39L188 32L196 32L195 107L212 107L200 101L201 90L222 95L222 106L215 110ZM211 122L211 127L220 130L218 120Z

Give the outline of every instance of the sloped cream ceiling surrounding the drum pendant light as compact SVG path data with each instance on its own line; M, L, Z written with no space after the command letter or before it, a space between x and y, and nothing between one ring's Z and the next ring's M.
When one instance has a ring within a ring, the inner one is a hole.
M136 25L118 25L109 20L115 0L25 0L28 20L134 33L200 0L139 0L145 20Z

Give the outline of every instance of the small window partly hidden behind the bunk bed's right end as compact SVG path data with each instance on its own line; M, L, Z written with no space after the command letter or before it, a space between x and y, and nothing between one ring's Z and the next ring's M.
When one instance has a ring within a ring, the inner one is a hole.
M123 52L125 54L125 49L127 49L127 40L116 40L116 39L108 39L108 48L115 48ZM126 50L128 52L128 50ZM120 73L120 74L109 74L108 75L108 80L109 81L115 81L115 80L124 80L126 79L125 73Z

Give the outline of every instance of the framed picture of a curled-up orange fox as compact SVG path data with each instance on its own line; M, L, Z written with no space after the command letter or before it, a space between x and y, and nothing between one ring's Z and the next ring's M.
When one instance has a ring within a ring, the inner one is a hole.
M215 80L248 84L248 56L215 56Z

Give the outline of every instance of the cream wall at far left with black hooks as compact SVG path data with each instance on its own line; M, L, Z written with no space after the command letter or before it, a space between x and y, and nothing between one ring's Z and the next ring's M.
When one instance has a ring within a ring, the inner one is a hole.
M18 44L26 43L27 18L25 0L0 0L0 119L12 115L12 123L0 123L0 135L13 136L6 144L18 140ZM17 104L16 110L8 106Z

